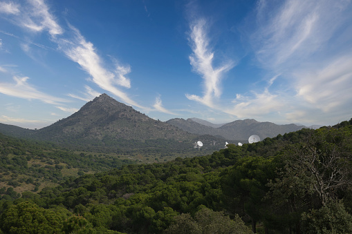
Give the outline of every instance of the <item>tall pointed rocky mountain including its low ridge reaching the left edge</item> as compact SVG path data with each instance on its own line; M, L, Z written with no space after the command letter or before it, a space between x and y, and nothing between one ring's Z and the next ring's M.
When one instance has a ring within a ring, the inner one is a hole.
M50 126L29 130L0 124L0 133L98 152L158 148L158 152L167 153L167 150L192 148L198 138L176 126L151 119L106 94L95 97L73 115Z

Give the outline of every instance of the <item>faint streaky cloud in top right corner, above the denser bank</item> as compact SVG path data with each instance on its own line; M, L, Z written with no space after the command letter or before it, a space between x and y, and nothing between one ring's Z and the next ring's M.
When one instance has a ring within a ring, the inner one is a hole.
M260 1L251 37L257 58L266 68L282 70L309 61L341 34L337 30L346 26L350 5L344 0Z

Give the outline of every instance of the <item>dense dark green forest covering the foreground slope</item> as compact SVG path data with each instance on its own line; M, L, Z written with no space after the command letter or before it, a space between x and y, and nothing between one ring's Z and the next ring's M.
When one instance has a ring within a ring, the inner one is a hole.
M28 166L36 153L0 148L1 172L39 173ZM52 166L89 165L78 156ZM207 156L118 162L39 193L1 188L0 233L352 233L352 119Z

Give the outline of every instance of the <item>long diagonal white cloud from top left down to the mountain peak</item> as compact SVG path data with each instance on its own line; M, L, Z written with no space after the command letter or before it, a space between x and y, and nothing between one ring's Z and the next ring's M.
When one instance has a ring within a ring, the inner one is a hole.
M64 31L59 25L55 16L50 13L50 9L43 0L28 0L23 5L9 3L12 10L7 12L21 12L16 17L12 17L11 21L26 28L32 32L47 31L50 40L57 43L58 50L63 52L68 59L79 64L82 70L91 76L91 81L103 90L111 92L113 95L120 97L122 101L136 106L140 106L122 91L120 87L131 88L131 81L127 75L131 72L129 65L122 66L116 59L113 59L115 69L106 68L104 60L98 55L97 49L90 41L87 41L80 31L68 23L68 29ZM15 8L16 7L16 8ZM7 9L7 8L6 8ZM14 35L12 35L14 36ZM15 37L15 36L14 36ZM22 44L25 52L28 52L28 43ZM80 97L70 94L71 97L86 100L89 97Z

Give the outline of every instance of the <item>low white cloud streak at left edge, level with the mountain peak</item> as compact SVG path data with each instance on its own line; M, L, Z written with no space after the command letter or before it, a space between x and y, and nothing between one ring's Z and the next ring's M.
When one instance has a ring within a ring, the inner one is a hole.
M19 97L23 99L37 99L47 104L59 104L67 102L66 99L53 97L44 92L40 92L34 86L28 84L28 77L13 77L15 83L0 83L0 92L5 95Z

